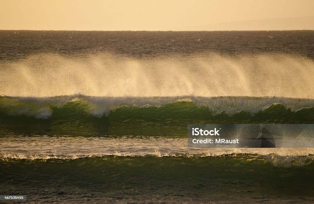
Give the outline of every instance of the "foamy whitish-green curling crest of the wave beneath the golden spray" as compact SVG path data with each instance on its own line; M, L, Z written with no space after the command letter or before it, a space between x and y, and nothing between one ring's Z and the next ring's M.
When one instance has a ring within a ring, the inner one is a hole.
M271 106L284 107L291 111L300 111L314 107L314 99L284 98L284 97L92 97L81 94L56 97L8 97L0 96L0 111L5 115L28 116L37 119L48 119L57 110L73 112L79 116L108 116L116 110L128 109L153 110L179 108L203 110L204 114L212 115L225 112L235 114L245 111L251 114L266 110ZM204 109L204 108L207 109ZM184 111L184 110L182 110ZM154 112L152 112L154 114ZM162 113L161 113L162 114Z

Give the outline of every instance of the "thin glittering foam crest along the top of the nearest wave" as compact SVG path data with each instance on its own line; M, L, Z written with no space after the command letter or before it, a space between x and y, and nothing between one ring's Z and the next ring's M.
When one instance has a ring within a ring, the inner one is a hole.
M130 160L140 159L141 157L151 159L151 158L171 158L175 157L177 159L207 159L207 160L215 160L215 158L226 158L232 160L241 160L246 163L254 163L255 161L263 161L272 164L277 167L301 167L310 165L314 161L314 155L304 155L304 156L279 156L276 154L268 154L268 155L259 155L259 154L244 154L244 153L231 153L231 154L214 154L209 156L207 153L200 154L182 154L177 153L175 155L161 155L159 152L150 155L143 156L127 156L120 155L118 153L114 155L81 155L81 156L73 156L67 157L62 155L48 156L48 155L33 155L33 156L24 156L24 155L9 155L9 154L1 154L0 160L7 162L68 162L69 160L106 160L106 158L114 158L116 160L129 158ZM228 166L226 163L225 166Z

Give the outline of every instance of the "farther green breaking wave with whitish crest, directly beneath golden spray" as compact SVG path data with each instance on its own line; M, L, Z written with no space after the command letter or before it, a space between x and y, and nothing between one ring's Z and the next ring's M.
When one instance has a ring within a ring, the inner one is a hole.
M314 100L269 97L0 97L0 131L183 135L187 124L313 124Z

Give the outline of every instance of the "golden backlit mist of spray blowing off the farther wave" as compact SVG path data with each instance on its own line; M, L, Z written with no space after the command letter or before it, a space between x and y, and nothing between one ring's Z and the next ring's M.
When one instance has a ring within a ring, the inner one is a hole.
M313 60L288 54L159 59L37 54L0 66L0 94L7 96L314 96Z

